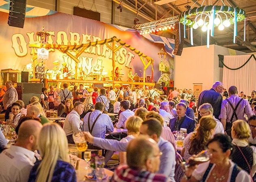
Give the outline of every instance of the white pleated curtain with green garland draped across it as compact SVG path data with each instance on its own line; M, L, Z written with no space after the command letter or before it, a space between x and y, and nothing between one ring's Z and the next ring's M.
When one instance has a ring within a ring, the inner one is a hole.
M243 65L251 55L224 56L224 64L230 68L238 68ZM256 61L252 57L250 61L240 69L230 70L223 67L223 84L228 90L230 86L236 86L238 93L243 91L247 96L252 90L256 90Z

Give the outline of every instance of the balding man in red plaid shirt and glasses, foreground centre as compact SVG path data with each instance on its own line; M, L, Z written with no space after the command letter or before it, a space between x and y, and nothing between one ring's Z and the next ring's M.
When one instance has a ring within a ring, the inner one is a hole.
M118 166L112 181L157 181L166 182L163 174L154 174L159 170L160 151L151 138L139 136L127 146L127 164Z

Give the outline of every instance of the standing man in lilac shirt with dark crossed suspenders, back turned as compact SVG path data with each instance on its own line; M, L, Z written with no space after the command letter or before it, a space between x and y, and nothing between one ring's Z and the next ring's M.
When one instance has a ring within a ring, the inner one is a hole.
M231 137L232 122L237 119L246 121L244 115L251 117L253 115L252 109L248 100L240 98L237 95L237 87L231 86L228 89L229 98L222 101L221 113L219 115L225 132Z

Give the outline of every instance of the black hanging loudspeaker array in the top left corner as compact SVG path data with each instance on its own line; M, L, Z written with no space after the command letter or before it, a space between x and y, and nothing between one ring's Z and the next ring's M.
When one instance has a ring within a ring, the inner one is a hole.
M26 15L26 0L10 0L8 25L12 27L24 27Z

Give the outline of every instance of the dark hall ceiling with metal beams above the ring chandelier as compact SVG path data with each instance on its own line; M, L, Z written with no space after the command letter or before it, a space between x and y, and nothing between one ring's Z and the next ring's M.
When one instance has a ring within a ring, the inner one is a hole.
M116 0L114 0L116 1ZM168 1L168 0L166 0ZM243 52L256 52L256 0L169 0L169 3L163 5L154 4L155 0L122 0L123 4L138 9L138 15L142 15L149 21L164 19L172 16L178 16L186 10L185 6L199 7L203 5L227 5L238 6L245 10L246 13L246 28L245 41L243 40L244 21L237 23L237 38L236 44L233 43L233 27L225 28L219 31L215 28L214 37L210 38L210 44L217 44ZM173 38L175 32L158 33L161 36ZM196 29L194 34L194 46L206 45L206 33L200 29ZM191 46L190 40L185 39L185 47Z

